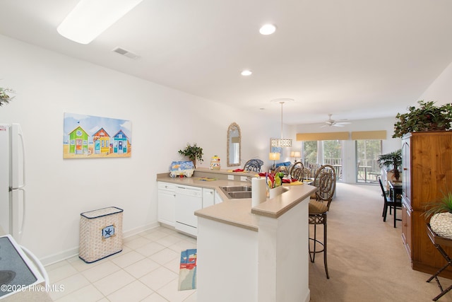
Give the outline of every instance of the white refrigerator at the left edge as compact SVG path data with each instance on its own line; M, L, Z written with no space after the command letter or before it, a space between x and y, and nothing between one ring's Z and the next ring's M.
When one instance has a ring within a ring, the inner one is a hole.
M0 124L0 226L20 243L25 222L25 147L19 124Z

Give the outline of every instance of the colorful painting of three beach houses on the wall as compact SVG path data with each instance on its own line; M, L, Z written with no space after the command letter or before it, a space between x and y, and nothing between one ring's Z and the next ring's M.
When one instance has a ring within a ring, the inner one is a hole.
M128 120L64 113L64 158L130 157L131 145Z

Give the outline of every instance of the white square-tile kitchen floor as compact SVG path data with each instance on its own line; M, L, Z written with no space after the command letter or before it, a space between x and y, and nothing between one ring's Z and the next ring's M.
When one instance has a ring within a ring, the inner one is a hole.
M54 301L196 302L196 290L178 291L182 250L196 239L158 227L124 238L122 252L87 264L78 257L46 267Z

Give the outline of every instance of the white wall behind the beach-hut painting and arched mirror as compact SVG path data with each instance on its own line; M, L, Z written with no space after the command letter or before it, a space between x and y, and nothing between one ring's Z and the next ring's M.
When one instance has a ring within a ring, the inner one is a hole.
M3 35L0 45L0 86L16 91L0 108L0 123L20 123L28 151L22 244L44 263L78 252L84 211L124 209L127 234L155 226L155 175L182 159L177 151L187 142L203 147L201 166L218 155L226 168L231 122L242 130L242 165L256 157L271 164L269 139L280 126L262 124L258 110L234 110ZM64 112L131 120L131 158L63 159Z

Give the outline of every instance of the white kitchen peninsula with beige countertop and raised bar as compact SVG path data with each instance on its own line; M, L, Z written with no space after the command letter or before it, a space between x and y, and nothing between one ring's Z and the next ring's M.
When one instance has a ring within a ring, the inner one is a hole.
M223 201L195 211L199 302L309 301L308 204L316 188L290 185L287 192L254 208L251 198L228 199L219 190L243 185L241 179L251 185L253 177L203 168L191 178L157 175L159 182L214 189Z

